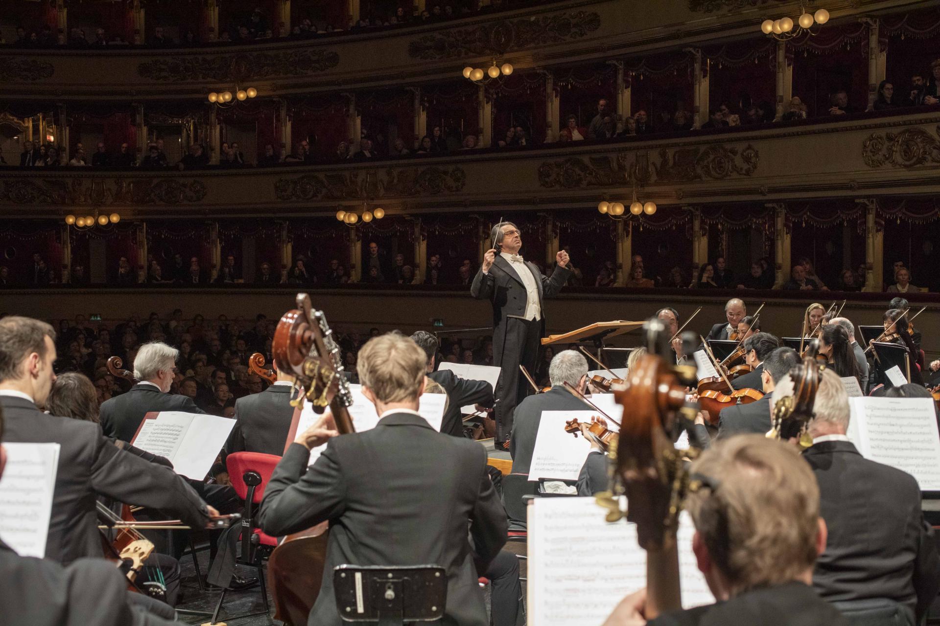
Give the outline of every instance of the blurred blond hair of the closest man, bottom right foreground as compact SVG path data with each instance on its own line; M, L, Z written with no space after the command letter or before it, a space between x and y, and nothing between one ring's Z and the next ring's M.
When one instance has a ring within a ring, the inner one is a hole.
M732 595L789 582L816 561L820 491L795 447L738 435L692 465L686 508Z

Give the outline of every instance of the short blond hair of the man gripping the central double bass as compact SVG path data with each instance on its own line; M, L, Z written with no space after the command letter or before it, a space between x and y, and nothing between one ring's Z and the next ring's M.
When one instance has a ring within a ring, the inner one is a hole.
M389 332L362 346L356 372L359 382L371 389L379 402L416 401L427 359L414 340L399 332Z

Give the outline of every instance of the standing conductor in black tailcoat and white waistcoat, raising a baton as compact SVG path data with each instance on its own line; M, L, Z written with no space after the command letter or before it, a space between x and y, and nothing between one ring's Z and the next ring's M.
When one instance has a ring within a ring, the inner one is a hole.
M470 286L470 294L493 303L493 365L502 369L496 383L495 444L505 447L512 432L512 413L525 397L525 378L519 366L532 372L545 332L542 298L554 296L568 281L568 252L556 254L551 278L519 255L522 234L511 221L500 221L490 235L493 249L483 255L483 264Z

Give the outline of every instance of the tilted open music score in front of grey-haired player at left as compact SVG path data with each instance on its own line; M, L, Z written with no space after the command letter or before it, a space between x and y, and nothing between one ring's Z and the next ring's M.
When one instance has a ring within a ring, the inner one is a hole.
M131 443L151 454L165 456L177 474L201 481L234 427L235 420L215 415L182 411L148 413Z

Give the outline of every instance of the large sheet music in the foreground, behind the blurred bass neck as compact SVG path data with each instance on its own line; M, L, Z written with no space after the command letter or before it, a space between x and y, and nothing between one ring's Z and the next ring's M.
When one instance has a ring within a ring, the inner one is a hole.
M593 497L537 497L528 508L528 607L532 626L598 626L624 596L646 587L636 527L607 523ZM678 535L682 605L714 602L692 554L686 514Z

